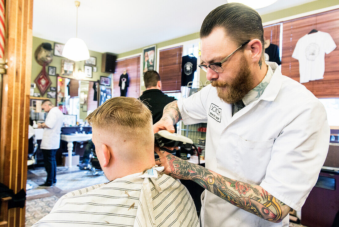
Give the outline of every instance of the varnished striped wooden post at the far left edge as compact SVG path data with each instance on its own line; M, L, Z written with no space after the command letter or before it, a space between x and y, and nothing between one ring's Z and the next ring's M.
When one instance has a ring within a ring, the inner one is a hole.
M0 132L0 182L17 193L26 188L29 88L32 70L33 0L7 0ZM8 227L25 226L25 208L8 210Z

